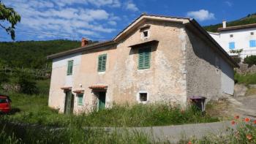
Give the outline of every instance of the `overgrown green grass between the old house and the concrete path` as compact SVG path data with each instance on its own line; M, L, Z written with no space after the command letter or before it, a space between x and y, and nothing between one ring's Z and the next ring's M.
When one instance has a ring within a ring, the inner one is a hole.
M10 94L12 108L16 112L7 115L9 121L48 126L164 126L219 121L217 117L203 115L195 107L151 105L114 105L111 109L82 115L64 115L48 107L44 95Z

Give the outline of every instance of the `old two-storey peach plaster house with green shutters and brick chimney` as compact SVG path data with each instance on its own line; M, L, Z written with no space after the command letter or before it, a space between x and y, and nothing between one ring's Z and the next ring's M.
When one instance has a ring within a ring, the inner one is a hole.
M48 56L49 106L60 113L233 94L238 65L193 19L140 15L112 40L87 43Z

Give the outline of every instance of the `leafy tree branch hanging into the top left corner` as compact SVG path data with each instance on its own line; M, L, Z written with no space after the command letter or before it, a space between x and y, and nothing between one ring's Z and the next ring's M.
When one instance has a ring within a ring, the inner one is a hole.
M11 7L6 7L0 1L0 21L7 21L11 24L11 26L4 26L0 23L0 27L7 31L7 34L10 34L12 40L15 39L15 26L18 22L20 22L20 15L18 12L15 12Z

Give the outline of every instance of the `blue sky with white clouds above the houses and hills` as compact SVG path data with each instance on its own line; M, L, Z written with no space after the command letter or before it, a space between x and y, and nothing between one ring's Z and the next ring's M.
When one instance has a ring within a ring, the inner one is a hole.
M15 41L113 39L143 12L195 18L201 26L255 13L255 0L1 0L21 16ZM0 21L0 23L3 23ZM3 23L8 26L8 23ZM0 41L12 41L0 29Z

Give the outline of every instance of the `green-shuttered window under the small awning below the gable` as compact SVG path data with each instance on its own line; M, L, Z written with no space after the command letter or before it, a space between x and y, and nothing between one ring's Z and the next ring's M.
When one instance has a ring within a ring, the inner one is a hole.
M140 48L138 53L138 69L149 69L151 48Z

